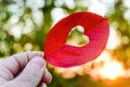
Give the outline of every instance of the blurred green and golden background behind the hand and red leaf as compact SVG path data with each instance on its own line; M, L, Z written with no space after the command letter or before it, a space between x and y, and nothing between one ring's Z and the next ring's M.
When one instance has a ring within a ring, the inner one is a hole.
M53 75L48 87L130 87L130 0L0 0L0 59L40 50L51 27L75 12L93 12L109 21L106 48L94 61L61 69L48 64ZM67 42L86 45L81 26ZM94 47L93 47L94 48Z

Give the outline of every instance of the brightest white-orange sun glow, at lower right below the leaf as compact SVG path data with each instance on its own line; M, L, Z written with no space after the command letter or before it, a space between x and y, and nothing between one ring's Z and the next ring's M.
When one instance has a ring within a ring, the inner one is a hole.
M94 79L115 79L125 75L123 65L114 60L108 51L104 51L94 60L94 67L91 72L87 72Z

